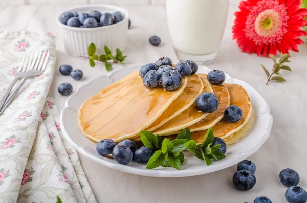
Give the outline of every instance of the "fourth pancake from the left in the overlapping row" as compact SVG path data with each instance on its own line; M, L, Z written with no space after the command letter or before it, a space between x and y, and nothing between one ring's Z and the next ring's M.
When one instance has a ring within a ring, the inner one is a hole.
M198 74L199 76L203 77L205 80L207 80L206 74ZM208 81L208 80L207 80ZM211 84L214 95L218 98L218 108L216 111L214 111L212 114L209 114L206 118L200 120L199 122L195 123L194 125L191 125L189 127L189 130L191 132L194 131L201 131L209 129L210 127L214 126L218 121L221 121L224 117L224 111L229 106L229 92L225 85L214 85ZM178 134L180 131L174 132L174 134Z

